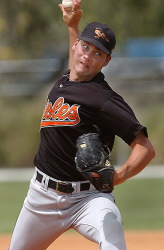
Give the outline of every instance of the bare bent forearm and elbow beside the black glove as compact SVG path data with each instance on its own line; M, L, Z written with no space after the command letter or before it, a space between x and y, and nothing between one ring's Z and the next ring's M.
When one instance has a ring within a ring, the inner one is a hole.
M151 142L143 133L140 133L130 146L132 152L127 161L116 170L114 185L118 185L141 172L155 156Z

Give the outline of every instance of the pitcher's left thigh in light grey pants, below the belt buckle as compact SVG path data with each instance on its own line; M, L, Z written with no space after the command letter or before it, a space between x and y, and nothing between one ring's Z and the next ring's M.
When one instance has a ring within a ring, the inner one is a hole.
M9 249L47 249L64 230L55 204L54 197L51 199L47 193L31 184L16 222Z

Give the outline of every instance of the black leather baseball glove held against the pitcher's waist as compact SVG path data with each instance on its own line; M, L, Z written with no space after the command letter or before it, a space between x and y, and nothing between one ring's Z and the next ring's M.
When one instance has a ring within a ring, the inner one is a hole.
M76 142L75 163L77 170L88 179L97 190L111 193L113 190L114 167L109 157L109 149L104 146L97 133L83 134Z

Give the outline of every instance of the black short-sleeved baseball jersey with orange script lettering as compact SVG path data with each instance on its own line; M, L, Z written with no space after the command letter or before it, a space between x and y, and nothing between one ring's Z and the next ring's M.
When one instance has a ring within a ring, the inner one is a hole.
M40 145L34 164L47 175L65 181L81 181L76 170L78 136L100 131L101 140L112 151L115 135L131 144L146 128L132 109L114 92L100 72L87 82L69 81L67 71L48 95L40 123Z

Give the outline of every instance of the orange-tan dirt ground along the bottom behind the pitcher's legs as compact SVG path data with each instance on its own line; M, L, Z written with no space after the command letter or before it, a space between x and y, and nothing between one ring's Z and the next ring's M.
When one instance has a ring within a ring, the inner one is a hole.
M0 235L0 249L7 250L10 235ZM126 231L128 250L163 250L164 231ZM48 250L98 250L98 246L77 233L65 233L60 236ZM39 250L39 249L37 249Z

